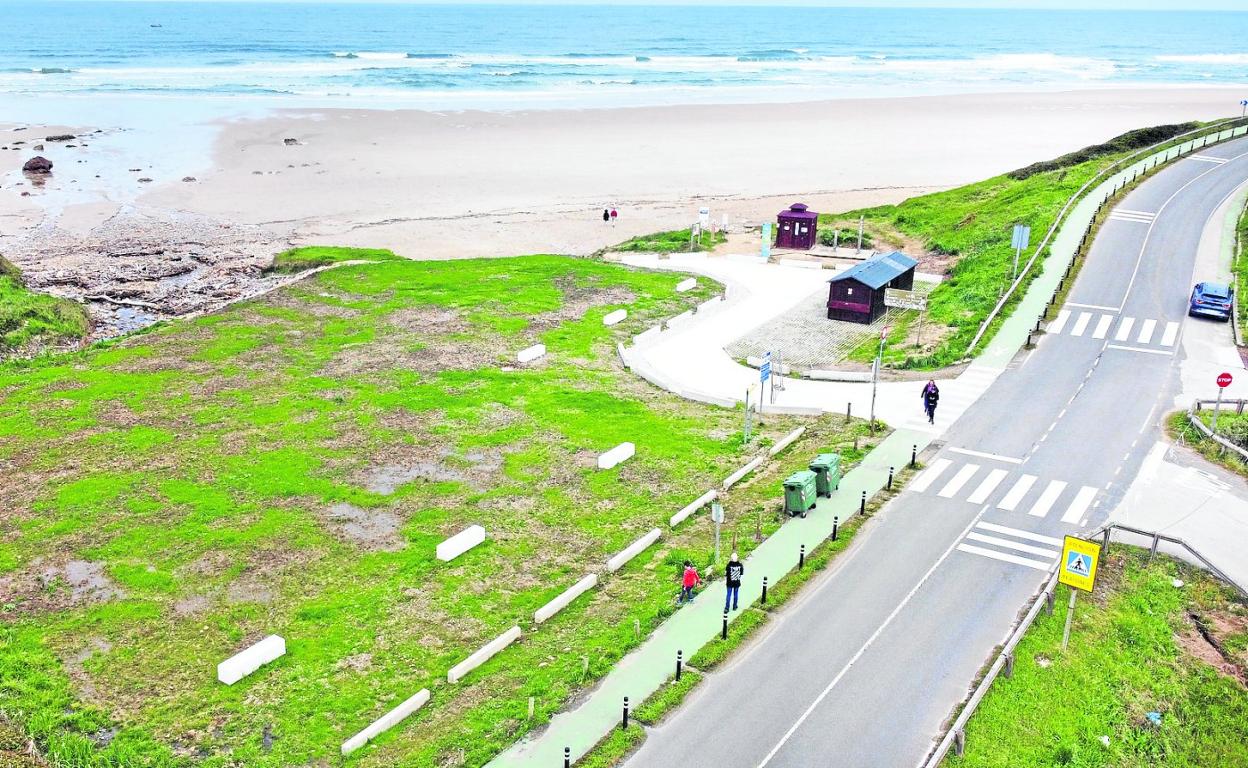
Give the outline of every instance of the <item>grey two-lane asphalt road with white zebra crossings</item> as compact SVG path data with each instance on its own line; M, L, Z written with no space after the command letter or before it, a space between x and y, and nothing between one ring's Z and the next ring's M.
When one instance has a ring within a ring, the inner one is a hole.
M1246 177L1238 140L1131 192L1037 348L628 766L921 764L1061 538L1103 522L1138 472L1178 391L1183 327L1209 322L1187 317L1201 231Z

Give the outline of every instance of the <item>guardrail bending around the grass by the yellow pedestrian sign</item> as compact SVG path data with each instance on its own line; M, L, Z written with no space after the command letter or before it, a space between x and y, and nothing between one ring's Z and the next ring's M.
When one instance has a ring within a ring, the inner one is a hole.
M1143 536L1151 539L1151 546L1148 548L1149 559L1152 559L1153 556L1157 554L1157 547L1162 542L1182 547L1183 549L1187 551L1188 554L1196 558L1201 563L1201 566L1204 567L1209 573L1216 576L1218 579L1226 582L1231 587L1234 587L1234 589L1239 592L1239 594L1242 594L1244 598L1248 598L1248 589L1244 589L1243 584L1239 584L1229 576L1227 576L1224 572L1222 572L1221 568L1211 563L1203 554L1201 554L1197 549L1194 549L1182 538L1166 536L1164 533L1158 533L1156 531L1142 531L1139 528L1133 528L1131 526L1122 526L1118 523L1108 523L1101 526L1099 528L1093 531L1088 538L1101 538L1102 539L1101 553L1104 554L1108 553L1109 551L1109 539L1114 531L1122 531L1124 533ZM931 754L927 756L927 759L924 761L922 768L937 768L941 764L941 762L948 756L950 749L952 749L953 754L956 756L962 754L962 751L966 747L966 723L971 719L971 716L975 714L975 711L978 708L980 702L983 701L983 697L987 696L988 689L992 687L992 683L997 679L997 676L1000 676L1002 672L1005 672L1006 677L1013 676L1015 648L1017 648L1018 643L1022 642L1023 636L1027 633L1027 629L1031 628L1031 624L1036 621L1036 617L1040 616L1041 609L1045 609L1048 613L1053 612L1053 606L1056 603L1056 589L1057 589L1057 568L1055 567L1052 574L1048 577L1048 581L1045 582L1045 586L1041 587L1035 596L1032 596L1031 608L1027 611L1027 614L1015 627L1013 633L1010 634L1010 639L1007 639L1006 644L1002 646L1001 652L997 653L996 658L992 659L992 664L988 667L988 671L983 674L983 679L980 681L980 684L975 687L975 691L971 693L971 698L967 699L966 706L962 707L962 711L958 713L957 719L955 719L953 724L950 726L948 731L945 733L945 737L940 741L936 748L932 749Z

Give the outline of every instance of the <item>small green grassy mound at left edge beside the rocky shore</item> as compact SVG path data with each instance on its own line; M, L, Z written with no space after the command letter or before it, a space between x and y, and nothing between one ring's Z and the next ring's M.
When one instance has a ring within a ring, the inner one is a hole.
M17 267L0 257L0 356L77 341L89 330L90 321L81 305L30 291L22 285Z

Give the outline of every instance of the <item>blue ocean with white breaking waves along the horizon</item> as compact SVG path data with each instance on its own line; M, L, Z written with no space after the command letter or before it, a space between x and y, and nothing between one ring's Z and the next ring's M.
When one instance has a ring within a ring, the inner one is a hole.
M1248 12L0 0L0 96L17 99L508 109L1248 84Z

